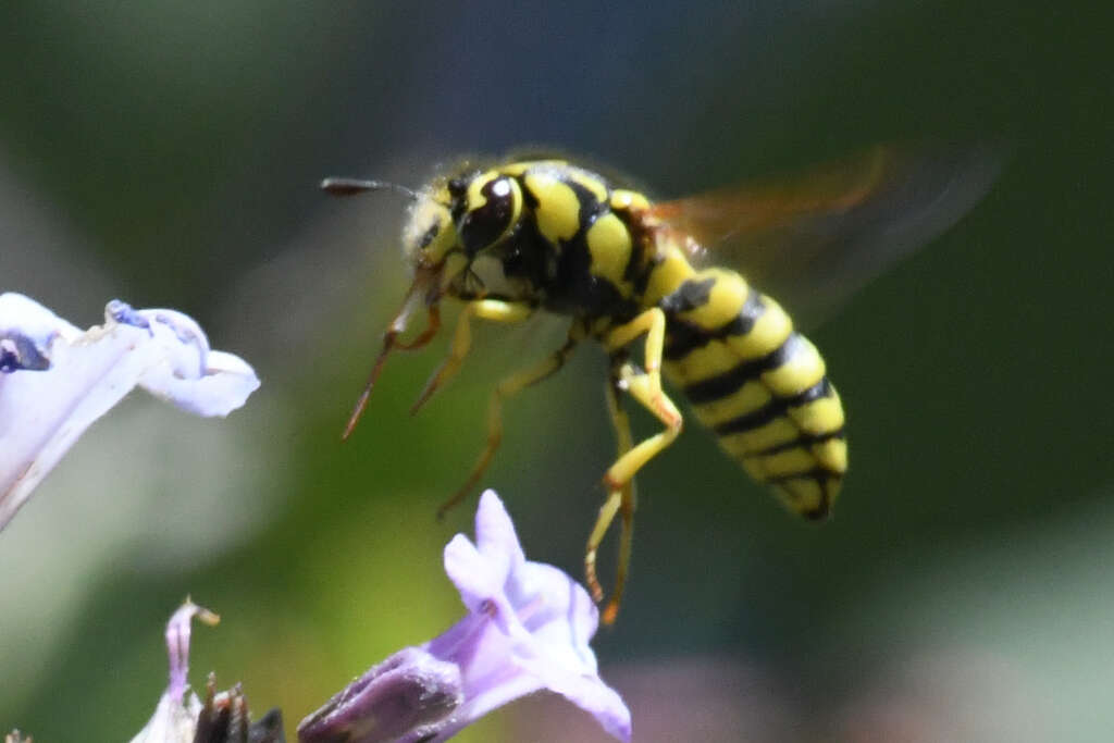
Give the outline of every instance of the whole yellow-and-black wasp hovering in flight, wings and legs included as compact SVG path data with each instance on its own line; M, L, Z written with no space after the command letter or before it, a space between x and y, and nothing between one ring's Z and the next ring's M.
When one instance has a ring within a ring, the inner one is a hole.
M684 417L663 378L752 479L791 511L822 519L848 468L843 403L820 352L774 296L792 300L794 314L830 310L947 228L993 177L981 150L915 153L880 146L793 178L658 203L567 159L465 165L417 192L328 178L322 187L334 195L394 189L411 201L402 242L413 281L344 438L391 352L437 335L442 300L462 303L462 311L448 356L414 410L460 369L473 321L522 323L555 313L569 319L565 342L496 384L487 444L439 514L472 491L491 461L504 403L593 341L610 360L607 405L618 440L585 551L587 584L602 602L596 551L618 515L606 623L616 617L629 567L635 475L682 431ZM721 257L732 267L714 265ZM403 340L419 311L424 329ZM635 441L622 404L627 397L659 421L658 432Z

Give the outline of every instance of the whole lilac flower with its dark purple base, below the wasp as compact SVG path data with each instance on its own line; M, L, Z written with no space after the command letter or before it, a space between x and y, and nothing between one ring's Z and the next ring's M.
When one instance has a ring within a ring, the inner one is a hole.
M443 741L540 690L561 694L631 740L631 713L596 668L599 614L551 565L530 563L499 497L476 514L476 544L457 535L444 569L468 615L440 637L372 667L299 725L302 743Z

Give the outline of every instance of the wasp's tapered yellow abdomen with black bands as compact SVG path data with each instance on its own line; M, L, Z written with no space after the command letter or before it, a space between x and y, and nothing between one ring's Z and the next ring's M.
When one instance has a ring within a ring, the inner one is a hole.
M733 271L688 272L658 306L667 317L664 371L696 418L790 509L827 516L847 471L847 442L815 346Z

